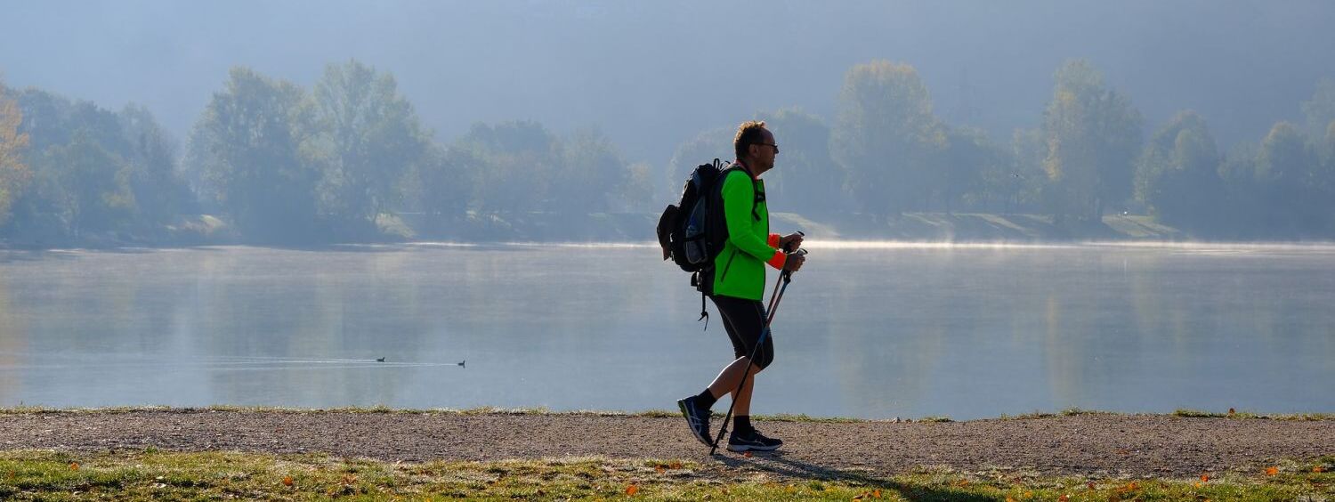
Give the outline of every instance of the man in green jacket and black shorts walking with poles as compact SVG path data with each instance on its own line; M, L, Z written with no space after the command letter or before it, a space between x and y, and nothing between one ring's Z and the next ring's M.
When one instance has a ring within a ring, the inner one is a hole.
M724 394L733 394L733 433L728 438L728 450L749 451L777 450L782 441L768 438L750 423L750 397L756 375L774 360L773 336L765 336L756 350L765 330L765 264L797 271L805 258L796 252L802 244L800 234L780 236L769 234L769 211L765 206L765 182L762 174L774 168L778 144L774 135L765 128L764 121L746 121L737 128L733 139L740 170L728 171L722 179L724 219L728 223L728 242L714 258L713 270L706 274L705 292L718 307L724 318L728 338L733 342L734 360L714 378L700 395L677 402L696 439L710 446L710 407ZM754 363L749 355L754 351ZM746 385L737 391L746 367L750 374Z

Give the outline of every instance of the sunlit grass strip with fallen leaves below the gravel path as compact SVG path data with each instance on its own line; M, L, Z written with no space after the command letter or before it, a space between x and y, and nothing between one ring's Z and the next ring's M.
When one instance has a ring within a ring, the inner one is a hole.
M322 454L0 451L0 499L1121 501L1328 499L1335 457L1200 479L1095 479L944 469L777 478L757 466L567 458L379 462Z

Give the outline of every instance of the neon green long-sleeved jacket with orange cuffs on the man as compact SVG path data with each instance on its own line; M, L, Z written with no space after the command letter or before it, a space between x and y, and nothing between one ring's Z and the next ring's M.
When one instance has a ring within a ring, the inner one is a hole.
M757 192L761 200L757 199ZM728 242L714 258L714 294L760 300L765 296L765 264L784 267L784 252L777 250L778 235L769 232L769 210L765 206L765 182L754 180L745 170L724 178L724 219ZM752 204L754 202L754 211Z

